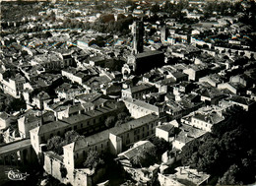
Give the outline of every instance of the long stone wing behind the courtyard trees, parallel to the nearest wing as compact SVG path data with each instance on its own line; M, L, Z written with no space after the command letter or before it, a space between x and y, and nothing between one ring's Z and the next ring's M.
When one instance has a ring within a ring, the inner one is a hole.
M105 106L90 110L84 114L72 115L62 118L61 121L54 121L38 126L30 131L32 147L36 154L42 151L47 140L53 136L64 136L67 131L75 130L84 134L97 132L105 128L104 121L109 115L116 115L125 108L124 103L108 103Z

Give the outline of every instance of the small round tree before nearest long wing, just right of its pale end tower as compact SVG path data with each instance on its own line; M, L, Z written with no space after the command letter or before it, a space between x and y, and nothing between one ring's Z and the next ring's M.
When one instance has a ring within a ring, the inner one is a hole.
M98 155L98 153L94 150L88 152L87 159L84 162L84 166L86 168L96 169L104 164L103 159Z

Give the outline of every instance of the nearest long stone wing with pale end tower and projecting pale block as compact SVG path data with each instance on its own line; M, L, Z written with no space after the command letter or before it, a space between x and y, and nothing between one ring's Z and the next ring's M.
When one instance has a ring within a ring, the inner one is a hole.
M110 152L112 155L118 155L127 146L153 135L159 120L157 115L149 114L68 144L63 147L64 164L75 168L85 160L90 150L95 150L99 154Z

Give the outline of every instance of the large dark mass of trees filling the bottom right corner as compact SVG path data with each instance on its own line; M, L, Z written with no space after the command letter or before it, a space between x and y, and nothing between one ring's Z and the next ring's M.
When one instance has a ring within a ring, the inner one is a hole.
M181 162L220 177L220 184L255 182L256 110L239 111L182 148Z

